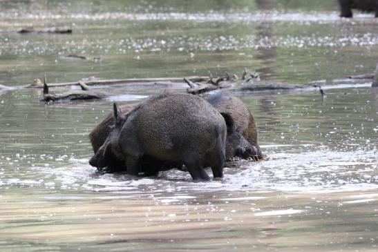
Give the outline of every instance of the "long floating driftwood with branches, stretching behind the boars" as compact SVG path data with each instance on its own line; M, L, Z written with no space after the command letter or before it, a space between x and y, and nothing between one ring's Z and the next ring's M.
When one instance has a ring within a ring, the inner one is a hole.
M26 86L0 86L0 90L13 90L19 88L44 88L44 98L41 101L74 101L74 100L87 100L87 99L103 99L109 97L112 93L96 92L90 90L91 86L110 86L117 85L124 90L133 90L135 88L147 89L186 89L187 93L199 95L207 93L212 90L225 89L229 91L272 91L272 90L314 90L319 88L319 91L324 98L326 95L323 88L317 85L296 85L296 84L283 84L273 81L261 81L256 72L249 72L244 70L241 79L237 75L229 75L227 72L223 77L169 77L169 78L142 78L142 79L95 79L94 77L88 78L87 81L64 82L55 84L46 84L41 79L35 79L34 84ZM367 75L363 75L367 76ZM82 90L70 90L66 93L49 94L48 88L52 87L65 87L65 86L80 86ZM378 76L373 81L372 86L378 86ZM104 88L104 87L102 87Z

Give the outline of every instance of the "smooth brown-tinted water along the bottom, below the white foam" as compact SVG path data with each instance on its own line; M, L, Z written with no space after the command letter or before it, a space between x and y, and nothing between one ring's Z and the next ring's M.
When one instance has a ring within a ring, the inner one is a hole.
M11 251L377 249L378 199L370 191L169 195L2 197L7 202L0 210L6 224L2 247Z

